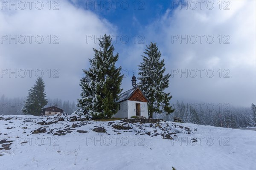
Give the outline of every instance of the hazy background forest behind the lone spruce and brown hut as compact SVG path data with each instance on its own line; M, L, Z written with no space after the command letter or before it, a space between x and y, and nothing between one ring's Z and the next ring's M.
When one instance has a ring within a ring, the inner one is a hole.
M0 114L9 115L9 114L19 114L22 115L22 108L24 106L24 101L26 98L8 98L5 95L2 95L0 98ZM44 107L57 106L62 108L66 113L73 113L76 111L76 103L70 102L69 100L62 102L61 99L47 99L48 103Z

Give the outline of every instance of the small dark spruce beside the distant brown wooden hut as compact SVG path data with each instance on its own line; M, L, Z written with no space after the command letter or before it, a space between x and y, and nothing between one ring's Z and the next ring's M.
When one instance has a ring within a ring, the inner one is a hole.
M40 77L35 82L34 87L29 90L29 94L25 101L25 105L22 108L24 114L32 114L35 116L41 116L41 108L47 105L46 94L44 92L44 81Z

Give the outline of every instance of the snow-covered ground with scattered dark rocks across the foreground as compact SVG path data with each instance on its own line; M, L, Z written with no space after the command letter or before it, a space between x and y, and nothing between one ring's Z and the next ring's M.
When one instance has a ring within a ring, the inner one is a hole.
M63 118L0 116L0 169L256 169L253 130Z

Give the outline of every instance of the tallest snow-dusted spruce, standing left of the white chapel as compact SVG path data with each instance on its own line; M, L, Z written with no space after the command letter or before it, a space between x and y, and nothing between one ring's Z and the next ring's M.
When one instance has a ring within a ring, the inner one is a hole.
M111 36L106 34L99 40L99 50L93 59L89 59L90 68L83 70L85 76L80 80L81 99L78 99L77 113L90 119L111 118L118 111L115 100L122 91L120 88L123 75L115 64L119 54L113 55L114 46Z

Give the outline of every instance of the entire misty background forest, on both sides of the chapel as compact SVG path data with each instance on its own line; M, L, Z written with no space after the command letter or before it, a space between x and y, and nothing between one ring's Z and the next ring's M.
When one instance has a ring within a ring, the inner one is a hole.
M24 106L25 98L7 98L4 95L1 96L1 110L0 114L5 115L22 115L22 108ZM61 101L61 99L48 99L48 106L58 106L63 108L65 113L73 113L77 110L77 106L74 101ZM230 128L240 128L240 127L256 127L256 107L254 104L251 107L232 107L227 105L222 106L220 109L219 105L214 105L214 110L206 109L205 107L196 107L190 103L183 103L182 101L172 103L175 109L173 113L166 115L154 114L155 118L160 118L164 120L173 120L173 116L180 117L183 122L191 122L200 125L211 125L218 127L230 127ZM191 107L189 107L191 105Z

